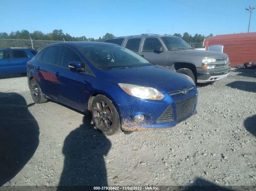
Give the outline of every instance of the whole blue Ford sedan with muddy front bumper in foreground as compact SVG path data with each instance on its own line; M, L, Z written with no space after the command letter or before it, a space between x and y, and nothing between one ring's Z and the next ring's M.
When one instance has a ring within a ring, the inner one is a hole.
M191 78L110 43L46 46L27 62L27 76L35 103L89 111L105 135L172 127L196 113Z

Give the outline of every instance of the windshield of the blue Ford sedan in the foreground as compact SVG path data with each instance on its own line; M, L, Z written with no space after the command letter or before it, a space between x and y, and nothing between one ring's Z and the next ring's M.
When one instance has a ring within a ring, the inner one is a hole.
M122 46L86 45L80 46L80 50L95 67L101 70L153 65L140 55Z

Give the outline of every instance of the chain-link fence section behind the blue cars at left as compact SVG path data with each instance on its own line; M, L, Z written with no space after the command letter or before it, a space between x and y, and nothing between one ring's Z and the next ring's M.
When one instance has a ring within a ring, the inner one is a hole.
M0 48L33 48L37 51L43 47L64 41L51 40L21 40L21 39L0 39Z

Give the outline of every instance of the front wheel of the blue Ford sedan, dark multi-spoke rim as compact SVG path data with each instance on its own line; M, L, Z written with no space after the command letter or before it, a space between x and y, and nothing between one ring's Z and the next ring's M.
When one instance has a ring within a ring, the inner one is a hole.
M121 132L121 123L115 105L105 95L97 95L91 103L91 118L104 135Z

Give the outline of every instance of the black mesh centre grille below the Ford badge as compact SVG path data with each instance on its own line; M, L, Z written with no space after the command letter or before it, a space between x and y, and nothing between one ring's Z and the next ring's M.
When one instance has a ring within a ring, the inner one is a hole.
M194 110L196 104L196 95L188 97L184 100L176 101L176 112L177 112L177 121L185 117Z

